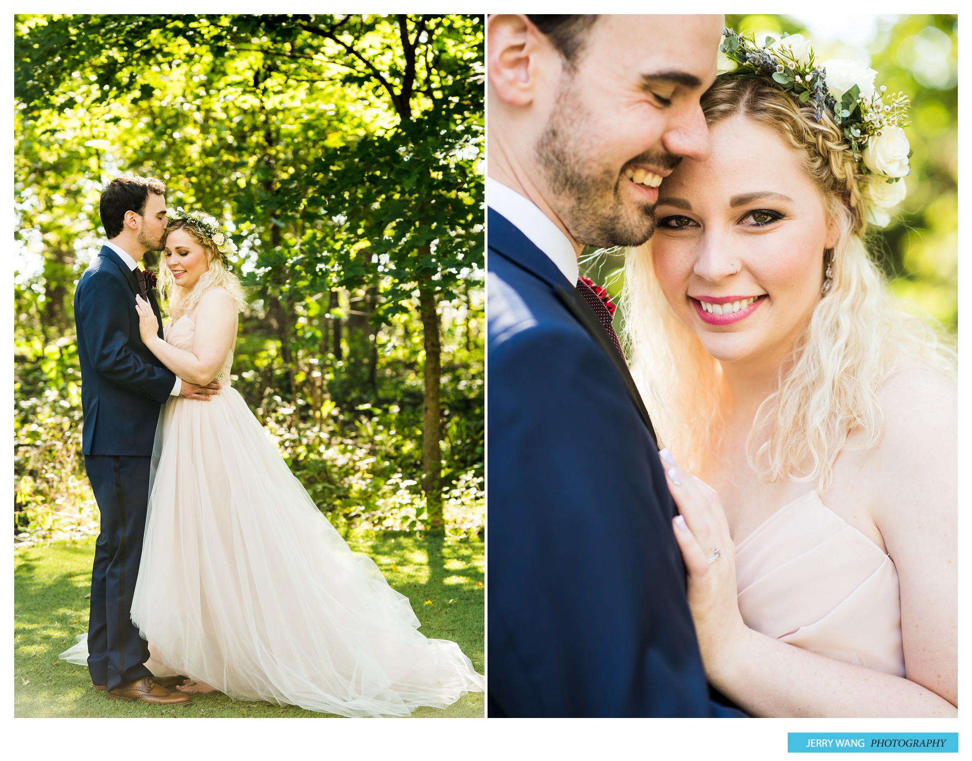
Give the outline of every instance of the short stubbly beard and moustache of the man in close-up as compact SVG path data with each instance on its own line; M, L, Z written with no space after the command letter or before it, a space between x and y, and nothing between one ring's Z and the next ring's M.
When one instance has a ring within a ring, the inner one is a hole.
M631 181L615 169L593 166L585 157L591 155L588 149L597 135L585 133L586 112L569 85L567 80L558 88L557 106L534 149L555 196L550 205L579 243L641 246L655 231L654 204L625 202L621 183ZM674 154L645 152L628 163L674 169L680 160Z

